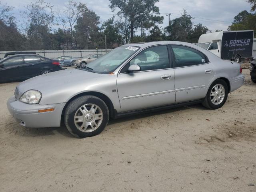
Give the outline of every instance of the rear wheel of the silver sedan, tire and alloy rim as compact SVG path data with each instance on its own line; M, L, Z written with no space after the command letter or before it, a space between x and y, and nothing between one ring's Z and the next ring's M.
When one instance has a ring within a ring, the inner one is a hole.
M221 108L228 98L228 85L222 79L214 81L202 102L209 109Z

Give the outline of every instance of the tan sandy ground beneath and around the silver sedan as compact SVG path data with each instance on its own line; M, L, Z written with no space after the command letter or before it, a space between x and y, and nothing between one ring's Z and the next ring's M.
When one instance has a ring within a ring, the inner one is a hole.
M24 128L0 84L0 191L256 191L256 84L218 110L199 105L111 120L98 136ZM252 186L252 185L255 186Z

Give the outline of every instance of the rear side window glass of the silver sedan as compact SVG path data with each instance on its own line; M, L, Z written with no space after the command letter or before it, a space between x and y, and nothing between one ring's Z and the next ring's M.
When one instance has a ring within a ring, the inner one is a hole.
M175 56L175 67L186 67L208 63L206 56L200 51L181 45L172 45Z

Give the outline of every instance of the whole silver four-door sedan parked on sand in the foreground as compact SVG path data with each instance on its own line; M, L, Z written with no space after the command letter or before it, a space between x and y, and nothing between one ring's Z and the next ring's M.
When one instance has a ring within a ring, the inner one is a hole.
M194 44L128 44L85 68L20 83L7 106L23 126L58 127L63 120L71 134L84 138L99 134L110 117L196 103L220 108L243 85L241 72L240 64Z

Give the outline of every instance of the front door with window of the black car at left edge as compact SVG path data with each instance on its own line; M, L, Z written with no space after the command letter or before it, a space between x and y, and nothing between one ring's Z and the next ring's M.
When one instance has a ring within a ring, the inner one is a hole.
M14 56L4 60L2 63L3 68L0 68L2 81L20 80L24 77L20 66L23 64L22 56Z

